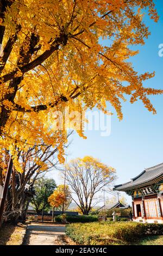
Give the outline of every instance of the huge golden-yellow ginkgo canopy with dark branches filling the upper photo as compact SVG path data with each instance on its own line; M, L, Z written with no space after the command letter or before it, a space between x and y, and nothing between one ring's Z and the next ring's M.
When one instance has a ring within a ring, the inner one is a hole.
M139 75L128 61L137 54L130 46L150 34L143 9L158 21L152 0L0 1L0 149L10 151L18 172L15 148L26 151L42 140L42 147L58 147L64 162L69 124L61 127L56 113L65 107L107 113L110 102L122 119L128 94L156 112L148 95L162 90L143 87L154 73ZM82 124L76 130L84 137Z

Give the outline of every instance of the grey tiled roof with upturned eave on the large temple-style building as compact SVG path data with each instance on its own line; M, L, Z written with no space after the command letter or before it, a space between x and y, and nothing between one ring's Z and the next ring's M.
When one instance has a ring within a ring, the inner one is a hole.
M131 181L121 185L116 185L114 190L127 191L132 188L150 185L152 182L154 183L161 179L163 180L163 163L143 170L142 173L131 179Z

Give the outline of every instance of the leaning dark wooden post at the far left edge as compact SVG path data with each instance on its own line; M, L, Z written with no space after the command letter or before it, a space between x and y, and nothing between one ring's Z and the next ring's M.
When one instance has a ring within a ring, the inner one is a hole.
M7 170L7 174L5 176L5 181L4 181L1 204L0 204L0 228L1 228L1 225L2 225L5 199L7 198L7 193L8 193L9 183L10 183L10 177L11 177L11 172L12 172L12 166L13 166L13 162L12 162L12 158L10 156L10 160L9 160L9 164L8 164L8 170Z

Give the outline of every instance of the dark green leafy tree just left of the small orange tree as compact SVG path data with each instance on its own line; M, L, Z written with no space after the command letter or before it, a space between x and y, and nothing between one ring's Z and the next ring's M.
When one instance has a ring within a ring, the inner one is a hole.
M40 213L43 209L45 188L46 188L45 210L48 211L49 209L51 209L48 203L48 197L53 193L56 187L57 185L55 183L55 180L53 179L41 178L39 180L36 180L34 185L35 196L32 199L32 206L34 207L37 213Z

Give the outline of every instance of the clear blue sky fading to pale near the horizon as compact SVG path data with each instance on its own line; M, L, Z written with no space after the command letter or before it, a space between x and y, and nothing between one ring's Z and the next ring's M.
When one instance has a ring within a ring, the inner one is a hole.
M158 23L145 17L145 22L151 31L146 44L137 46L139 54L130 60L140 74L155 71L155 77L145 82L145 86L163 89L163 57L159 57L159 44L163 44L163 2L155 1L160 16ZM76 157L91 155L116 169L118 179L116 184L129 181L140 174L144 168L163 162L163 95L151 96L157 114L153 115L143 107L141 101L131 105L123 103L124 118L119 121L115 111L111 117L111 134L101 137L99 131L87 131L87 139L77 134L68 149L67 161ZM55 173L54 173L55 172ZM59 174L54 171L51 176L59 184ZM131 198L127 197L128 202Z

